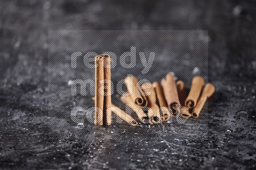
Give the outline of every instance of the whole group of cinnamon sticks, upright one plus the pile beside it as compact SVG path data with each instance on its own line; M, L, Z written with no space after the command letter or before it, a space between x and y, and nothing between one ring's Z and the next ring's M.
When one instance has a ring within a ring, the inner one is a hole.
M95 58L95 125L110 125L111 113L114 112L128 124L135 126L138 122L126 114L124 110L111 103L110 82L110 56L103 54ZM100 85L103 84L104 86ZM184 82L175 81L173 73L168 73L159 82L138 83L135 76L125 79L127 92L121 96L121 101L130 104L142 123L157 124L167 121L170 117L199 116L207 98L215 91L211 83L204 85L201 76L195 76L191 83L188 96L186 95ZM108 87L107 87L108 86ZM99 89L99 90L98 90ZM106 90L108 89L108 90Z

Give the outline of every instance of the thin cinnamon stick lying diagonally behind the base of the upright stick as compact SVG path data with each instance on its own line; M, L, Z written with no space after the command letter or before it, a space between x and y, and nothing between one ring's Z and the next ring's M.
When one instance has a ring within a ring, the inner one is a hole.
M95 97L92 97L92 100L95 100ZM123 119L125 122L127 122L131 126L136 126L138 124L138 122L132 116L125 113L124 110L121 110L121 109L119 110L116 108L117 108L117 106L115 104L111 103L111 109L112 109L111 111L113 111L118 117Z

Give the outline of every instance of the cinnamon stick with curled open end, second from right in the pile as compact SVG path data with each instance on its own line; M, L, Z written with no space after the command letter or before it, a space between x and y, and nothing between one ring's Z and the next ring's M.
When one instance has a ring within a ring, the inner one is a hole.
M201 76L195 76L192 80L191 88L187 99L185 100L185 106L190 108L196 107L197 100L204 86L204 79Z

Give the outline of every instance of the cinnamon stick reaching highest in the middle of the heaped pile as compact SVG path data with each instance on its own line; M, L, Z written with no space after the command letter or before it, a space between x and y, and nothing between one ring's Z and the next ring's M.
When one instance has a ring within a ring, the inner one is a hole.
M177 117L180 114L180 101L173 73L168 73L166 79L161 81L164 89L164 96L168 107L172 109L172 117Z

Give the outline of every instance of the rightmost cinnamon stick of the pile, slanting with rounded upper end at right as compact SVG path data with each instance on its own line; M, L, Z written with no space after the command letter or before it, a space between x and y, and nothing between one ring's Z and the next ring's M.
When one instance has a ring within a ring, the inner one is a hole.
M200 96L200 99L196 104L196 108L192 113L192 117L196 118L199 116L200 111L203 109L204 103L206 102L207 98L212 96L214 91L215 91L215 87L212 83L207 83L204 86L204 90L202 92L202 95Z

